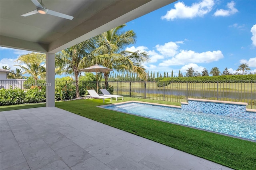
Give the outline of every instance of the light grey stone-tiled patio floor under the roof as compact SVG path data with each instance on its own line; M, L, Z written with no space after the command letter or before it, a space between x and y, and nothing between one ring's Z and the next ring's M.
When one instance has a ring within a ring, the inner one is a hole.
M1 170L229 170L56 107L0 113Z

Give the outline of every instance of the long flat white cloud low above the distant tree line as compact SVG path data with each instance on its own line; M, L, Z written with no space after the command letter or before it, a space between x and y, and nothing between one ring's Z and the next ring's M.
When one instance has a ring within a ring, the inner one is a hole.
M160 66L169 66L169 65L184 65L186 63L210 63L212 61L218 61L224 56L220 50L218 51L206 51L202 53L196 53L191 50L182 50L172 59L168 59L160 63Z

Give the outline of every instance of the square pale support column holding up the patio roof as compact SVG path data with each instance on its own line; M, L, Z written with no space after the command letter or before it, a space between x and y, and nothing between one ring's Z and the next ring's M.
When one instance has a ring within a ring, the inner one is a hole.
M55 107L55 54L46 53L46 107Z

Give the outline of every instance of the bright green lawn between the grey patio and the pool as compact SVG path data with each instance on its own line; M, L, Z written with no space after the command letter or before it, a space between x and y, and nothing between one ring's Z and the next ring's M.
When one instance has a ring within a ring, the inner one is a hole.
M128 97L124 98L124 101L129 100L180 105L179 103ZM122 102L122 100L118 100L118 102ZM105 103L103 103L101 99L81 99L56 102L55 104L58 108L148 138L230 168L254 170L256 167L256 142L96 107L98 105L109 103L116 103L116 101L113 100L110 102L107 99Z

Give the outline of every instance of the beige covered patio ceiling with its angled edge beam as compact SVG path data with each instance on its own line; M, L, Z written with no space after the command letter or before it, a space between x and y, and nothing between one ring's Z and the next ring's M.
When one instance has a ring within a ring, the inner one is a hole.
M40 0L38 0L40 2ZM22 14L35 10L31 0L0 0L0 45L56 53L175 0L43 0L46 8L74 16Z

